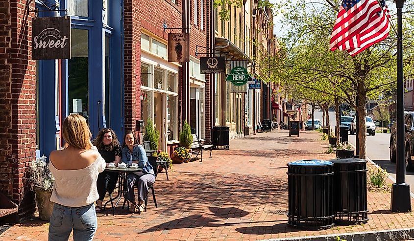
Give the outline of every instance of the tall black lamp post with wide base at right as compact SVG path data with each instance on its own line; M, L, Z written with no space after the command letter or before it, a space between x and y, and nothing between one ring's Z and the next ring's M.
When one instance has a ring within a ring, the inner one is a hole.
M404 83L403 83L403 42L402 8L405 0L394 0L397 6L397 150L396 182L391 189L391 211L411 211L410 186L405 183L405 126L404 126Z

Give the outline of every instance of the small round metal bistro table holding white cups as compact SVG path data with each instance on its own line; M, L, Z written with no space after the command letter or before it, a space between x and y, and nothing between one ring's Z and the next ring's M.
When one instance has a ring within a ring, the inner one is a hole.
M103 205L103 211L105 211L106 204L108 204L109 202L111 202L111 205L113 205L112 204L112 201L118 199L117 202L115 203L115 205L112 207L113 208L112 215L115 215L115 208L117 207L118 203L120 202L121 197L123 197L124 200L126 200L128 202L131 202L131 205L135 205L135 206L138 207L137 203L134 200L129 200L128 198L125 197L126 190L125 190L125 187L124 187L124 182L125 182L126 176L128 174L130 174L130 173L136 173L136 172L141 172L142 171L142 168L106 167L105 168L105 171L119 173L119 176L118 176L118 194L117 194L116 197L113 197L110 200L108 200L107 202L105 202L105 205ZM123 205L122 205L122 208L123 208ZM140 213L141 212L140 212L140 209L138 207L138 214L140 214Z

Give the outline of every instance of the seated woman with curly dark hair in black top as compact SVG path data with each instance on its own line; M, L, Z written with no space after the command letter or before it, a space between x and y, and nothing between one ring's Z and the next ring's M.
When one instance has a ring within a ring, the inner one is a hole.
M106 166L108 163L121 163L122 149L118 141L117 135L110 128L102 129L98 132L97 138L93 141L100 155L105 159ZM97 200L96 212L102 210L102 201L106 192L111 194L118 181L118 173L103 171L98 175L97 191L99 199Z

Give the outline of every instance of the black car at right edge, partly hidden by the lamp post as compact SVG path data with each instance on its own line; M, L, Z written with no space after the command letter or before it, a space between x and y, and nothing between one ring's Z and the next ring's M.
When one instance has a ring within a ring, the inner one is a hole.
M405 165L406 170L412 170L412 160L414 155L414 111L404 112L404 124L405 124ZM391 162L396 161L396 131L397 123L392 123L391 126L391 137L390 137L390 160ZM413 155L412 155L413 154Z

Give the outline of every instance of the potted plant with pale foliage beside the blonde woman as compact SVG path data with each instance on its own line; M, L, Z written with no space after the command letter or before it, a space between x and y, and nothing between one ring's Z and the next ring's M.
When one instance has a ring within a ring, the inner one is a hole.
M30 163L30 180L36 194L36 205L39 219L49 221L53 211L53 202L50 196L53 191L54 176L49 170L46 156L36 158Z

